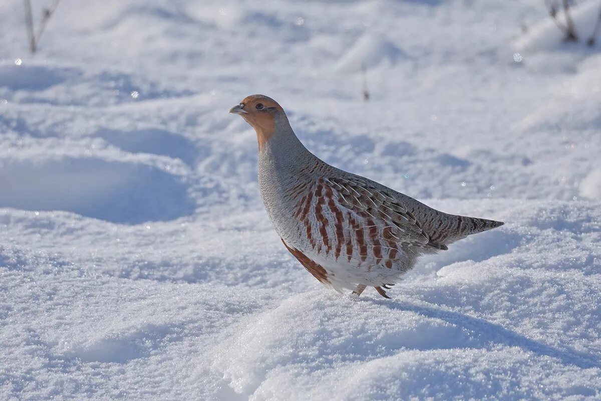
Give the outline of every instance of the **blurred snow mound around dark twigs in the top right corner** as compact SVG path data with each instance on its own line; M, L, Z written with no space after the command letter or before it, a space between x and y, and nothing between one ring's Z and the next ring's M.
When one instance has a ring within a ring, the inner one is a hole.
M599 19L599 2L584 1L576 7L570 8L570 16L576 27L576 34L581 41L586 41L593 34L595 23ZM558 19L565 25L563 11L558 13ZM534 26L529 27L528 32L516 40L515 46L518 51L524 53L526 58L528 54L535 52L566 50L564 34L551 16L546 16Z

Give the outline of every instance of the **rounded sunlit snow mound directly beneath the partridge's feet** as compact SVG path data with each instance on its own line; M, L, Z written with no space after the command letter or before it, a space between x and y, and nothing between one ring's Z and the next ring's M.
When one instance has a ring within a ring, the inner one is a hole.
M363 317L358 320L359 315ZM402 309L383 314L377 302L319 291L291 296L273 310L241 322L215 350L220 357L213 367L234 390L249 395L264 391L261 383L267 373L277 376L295 366L304 366L307 374L334 364L385 358L398 350L477 343L469 331L441 319Z

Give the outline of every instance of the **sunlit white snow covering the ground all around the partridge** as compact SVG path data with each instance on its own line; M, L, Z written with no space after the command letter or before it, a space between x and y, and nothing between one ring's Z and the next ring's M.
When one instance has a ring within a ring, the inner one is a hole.
M0 399L601 397L601 54L542 2L64 0L33 57L0 15ZM227 114L253 93L331 164L506 224L393 299L326 290Z

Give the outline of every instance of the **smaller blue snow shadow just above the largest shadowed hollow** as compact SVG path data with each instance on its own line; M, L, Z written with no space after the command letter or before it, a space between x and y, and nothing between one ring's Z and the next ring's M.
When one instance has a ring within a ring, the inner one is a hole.
M150 128L130 131L102 129L93 136L98 136L126 152L168 156L180 159L189 165L194 164L198 155L192 141L163 129Z

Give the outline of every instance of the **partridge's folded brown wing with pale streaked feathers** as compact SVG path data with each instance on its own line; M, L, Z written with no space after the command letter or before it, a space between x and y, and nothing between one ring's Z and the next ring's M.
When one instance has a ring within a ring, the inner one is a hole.
M360 177L331 177L325 183L337 195L338 204L361 218L366 226L382 228L387 242L420 248L447 249L433 242L420 222L402 204ZM366 231L370 227L365 227Z

